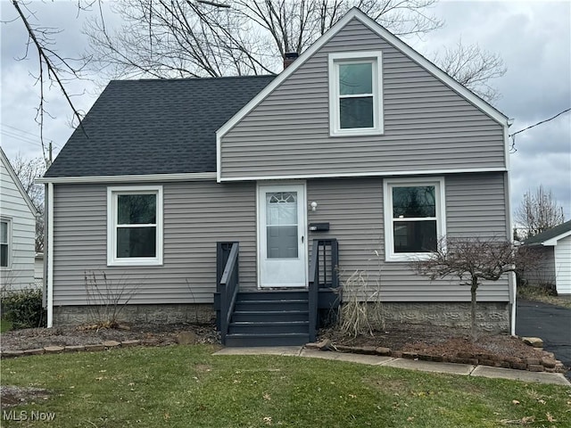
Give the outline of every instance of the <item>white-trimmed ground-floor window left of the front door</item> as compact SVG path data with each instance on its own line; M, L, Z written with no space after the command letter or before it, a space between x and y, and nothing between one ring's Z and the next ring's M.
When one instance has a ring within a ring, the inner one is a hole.
M162 264L162 186L107 188L107 264Z

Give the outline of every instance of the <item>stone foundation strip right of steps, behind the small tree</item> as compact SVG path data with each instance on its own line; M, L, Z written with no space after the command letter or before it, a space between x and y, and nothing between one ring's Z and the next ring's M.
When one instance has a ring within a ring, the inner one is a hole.
M469 328L471 305L443 302L387 302L383 303L385 322L419 325L444 325ZM477 304L476 325L488 333L509 333L509 304L482 302Z

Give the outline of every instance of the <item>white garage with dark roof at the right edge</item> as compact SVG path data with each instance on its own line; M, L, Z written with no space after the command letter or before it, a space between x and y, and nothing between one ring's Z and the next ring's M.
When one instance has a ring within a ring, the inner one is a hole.
M541 260L539 268L525 273L527 284L571 294L571 220L526 239L524 245Z

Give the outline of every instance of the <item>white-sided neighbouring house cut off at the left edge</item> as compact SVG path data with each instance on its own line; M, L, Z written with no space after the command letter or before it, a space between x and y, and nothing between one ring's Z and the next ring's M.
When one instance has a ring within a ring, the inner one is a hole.
M34 285L37 210L0 148L0 278L2 292Z

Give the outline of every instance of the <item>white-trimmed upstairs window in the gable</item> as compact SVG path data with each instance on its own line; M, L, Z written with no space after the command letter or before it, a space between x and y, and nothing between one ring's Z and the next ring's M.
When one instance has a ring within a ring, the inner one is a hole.
M329 53L331 136L383 134L382 70L380 51Z

